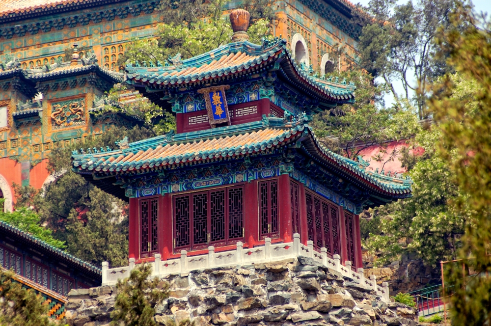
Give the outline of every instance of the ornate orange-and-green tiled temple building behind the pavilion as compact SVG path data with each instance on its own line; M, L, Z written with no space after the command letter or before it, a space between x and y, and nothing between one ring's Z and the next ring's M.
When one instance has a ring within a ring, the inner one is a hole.
M273 34L286 40L299 63L324 73L358 61L361 26L351 21L356 9L349 1L286 0L272 6ZM46 168L53 148L100 135L111 124L138 123L92 113L104 92L123 81L117 61L130 39L156 33L164 16L158 7L158 0L1 1L0 198L6 210L13 208L13 182L39 189L53 180ZM83 53L61 62L74 44ZM345 55L334 67L338 46ZM199 128L178 121L184 130Z

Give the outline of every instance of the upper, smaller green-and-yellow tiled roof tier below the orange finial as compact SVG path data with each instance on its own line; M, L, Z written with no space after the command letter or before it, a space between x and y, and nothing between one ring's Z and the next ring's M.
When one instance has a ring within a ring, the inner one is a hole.
M301 69L287 50L285 39L267 46L248 41L229 43L183 60L179 65L136 67L129 64L126 71L130 83L162 88L240 77L269 69L275 64L277 66L273 69L278 69L283 78L308 88L321 98L332 102L354 100L354 85L321 80Z

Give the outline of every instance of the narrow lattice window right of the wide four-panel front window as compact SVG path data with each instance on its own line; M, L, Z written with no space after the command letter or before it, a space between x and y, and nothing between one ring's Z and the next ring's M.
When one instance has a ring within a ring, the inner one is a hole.
M278 180L259 183L259 225L261 240L279 237Z

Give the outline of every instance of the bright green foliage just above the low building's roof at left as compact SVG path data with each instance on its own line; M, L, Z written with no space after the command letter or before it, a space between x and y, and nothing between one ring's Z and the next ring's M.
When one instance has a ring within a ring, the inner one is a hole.
M2 210L0 211L0 220L32 234L34 237L46 242L48 245L52 245L59 249L66 248L63 241L59 241L53 237L50 229L41 225L41 218L39 215L26 207L20 207L12 213L4 213Z

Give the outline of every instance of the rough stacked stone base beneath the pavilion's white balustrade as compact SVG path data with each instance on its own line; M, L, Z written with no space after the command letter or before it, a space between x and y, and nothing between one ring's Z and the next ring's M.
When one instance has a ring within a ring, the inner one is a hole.
M418 325L417 311L385 303L361 286L307 257L280 262L168 275L170 297L156 307L155 321L173 325ZM110 322L116 289L102 286L68 294L69 325Z

